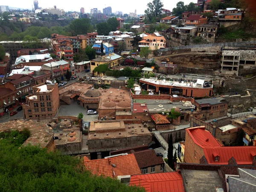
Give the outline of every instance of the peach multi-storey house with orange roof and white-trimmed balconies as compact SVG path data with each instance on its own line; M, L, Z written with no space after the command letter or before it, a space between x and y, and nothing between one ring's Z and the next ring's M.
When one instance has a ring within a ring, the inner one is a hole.
M166 48L166 39L160 34L151 34L142 38L142 41L139 42L139 47L149 47L150 50Z

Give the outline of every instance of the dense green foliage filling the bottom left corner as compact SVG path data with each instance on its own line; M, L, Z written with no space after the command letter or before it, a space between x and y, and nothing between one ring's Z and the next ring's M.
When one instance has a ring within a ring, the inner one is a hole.
M18 131L0 134L0 191L145 192L110 177L92 175L77 157L22 146L27 137L26 132Z

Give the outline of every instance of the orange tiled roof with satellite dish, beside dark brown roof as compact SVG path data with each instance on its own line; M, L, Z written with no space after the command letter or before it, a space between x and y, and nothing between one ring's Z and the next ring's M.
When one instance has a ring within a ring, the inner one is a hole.
M116 165L116 168L111 166ZM134 154L123 155L108 159L85 160L84 165L94 175L105 175L106 177L117 177L118 175L141 174L140 168Z

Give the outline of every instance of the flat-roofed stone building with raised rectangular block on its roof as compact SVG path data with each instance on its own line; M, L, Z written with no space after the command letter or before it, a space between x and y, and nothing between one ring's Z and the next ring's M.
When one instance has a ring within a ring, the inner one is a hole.
M125 124L120 121L95 121L90 123L88 148L124 148L148 145L152 137L142 124Z

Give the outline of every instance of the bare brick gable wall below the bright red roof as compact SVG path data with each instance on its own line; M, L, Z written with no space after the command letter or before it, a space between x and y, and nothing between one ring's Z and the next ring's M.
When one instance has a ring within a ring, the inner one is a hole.
M200 163L201 157L204 156L204 149L194 143L188 132L186 131L186 149L184 153L185 163ZM196 152L196 157L195 157Z

